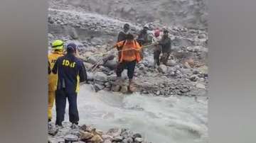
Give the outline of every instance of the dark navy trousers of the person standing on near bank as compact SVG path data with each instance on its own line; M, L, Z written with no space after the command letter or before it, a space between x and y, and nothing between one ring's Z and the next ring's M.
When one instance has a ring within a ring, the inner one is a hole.
M62 122L65 117L65 105L68 98L68 113L69 120L72 123L78 124L79 115L78 115L78 104L77 97L78 93L75 91L66 91L65 88L58 89L55 91L55 105L56 105L56 125L62 125Z

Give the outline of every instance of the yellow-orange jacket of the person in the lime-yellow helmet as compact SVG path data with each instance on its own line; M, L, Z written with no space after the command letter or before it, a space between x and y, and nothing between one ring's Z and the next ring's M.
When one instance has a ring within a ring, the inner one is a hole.
M50 69L53 69L53 66L58 59L58 57L63 56L63 52L52 52L48 55L48 62L50 63ZM50 73L48 76L48 90L55 91L57 86L57 74Z

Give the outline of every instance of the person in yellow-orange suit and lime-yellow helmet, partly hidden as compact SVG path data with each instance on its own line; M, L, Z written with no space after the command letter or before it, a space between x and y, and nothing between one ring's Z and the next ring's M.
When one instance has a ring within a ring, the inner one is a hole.
M58 57L63 56L64 42L62 40L55 40L51 43L53 52L48 55L48 64L50 64L50 70L53 69ZM49 73L49 71L48 71ZM50 73L48 76L48 122L52 119L52 109L55 99L57 75Z

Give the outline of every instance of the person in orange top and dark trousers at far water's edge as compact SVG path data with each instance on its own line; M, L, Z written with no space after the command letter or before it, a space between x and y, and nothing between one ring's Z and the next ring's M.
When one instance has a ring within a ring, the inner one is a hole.
M129 33L127 35L127 40L117 42L114 47L122 50L121 56L118 59L119 63L117 64L116 69L117 83L120 84L122 71L124 71L124 69L127 69L127 76L129 78L128 88L129 91L134 91L135 87L132 79L134 76L134 69L136 63L142 60L142 57L140 56L142 46L139 45L139 42L137 42L137 40L134 40L134 35Z

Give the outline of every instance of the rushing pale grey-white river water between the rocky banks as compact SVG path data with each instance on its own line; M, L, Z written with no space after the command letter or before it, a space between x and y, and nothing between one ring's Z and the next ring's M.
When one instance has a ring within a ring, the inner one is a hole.
M93 125L107 131L129 128L154 143L208 142L208 102L206 97L154 97L138 93L123 95L80 87L80 125ZM55 114L55 113L54 113ZM68 121L68 105L65 120Z

